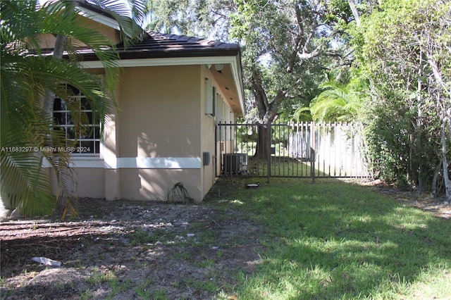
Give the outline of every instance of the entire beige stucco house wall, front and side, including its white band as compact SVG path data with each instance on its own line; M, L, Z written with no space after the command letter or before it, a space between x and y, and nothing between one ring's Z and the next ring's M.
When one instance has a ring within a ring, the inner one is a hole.
M100 69L90 72L99 74ZM75 157L78 196L164 200L176 182L202 201L215 181L215 125L230 120L223 92L203 65L124 68L106 116L99 156ZM212 80L221 114L206 115L205 78ZM209 164L204 165L204 152Z

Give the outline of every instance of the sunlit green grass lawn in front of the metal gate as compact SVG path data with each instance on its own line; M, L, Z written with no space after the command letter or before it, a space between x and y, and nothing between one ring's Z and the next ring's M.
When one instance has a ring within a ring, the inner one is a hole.
M264 227L237 299L451 299L450 220L340 180L247 182L214 204Z

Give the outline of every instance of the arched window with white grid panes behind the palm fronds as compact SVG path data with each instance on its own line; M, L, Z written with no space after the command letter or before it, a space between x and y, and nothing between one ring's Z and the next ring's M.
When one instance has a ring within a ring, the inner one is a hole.
M68 146L73 147L74 154L99 154L100 153L100 120L99 114L93 111L87 98L75 87L67 85L72 89L73 96L70 100L78 105L80 111L85 113L84 125L87 127L84 132L75 132L73 116L70 115L66 100L55 97L54 120L56 129L62 130L68 141L73 143Z

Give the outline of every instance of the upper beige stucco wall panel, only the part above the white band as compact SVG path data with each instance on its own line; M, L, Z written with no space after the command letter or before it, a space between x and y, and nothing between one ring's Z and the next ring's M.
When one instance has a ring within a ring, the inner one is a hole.
M199 66L125 68L119 92L124 157L199 156Z

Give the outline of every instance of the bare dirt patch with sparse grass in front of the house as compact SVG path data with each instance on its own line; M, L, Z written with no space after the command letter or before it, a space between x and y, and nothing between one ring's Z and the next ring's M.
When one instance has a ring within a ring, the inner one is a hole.
M242 213L208 204L83 199L77 218L0 224L0 298L233 296L237 273L259 263L259 230Z

